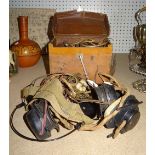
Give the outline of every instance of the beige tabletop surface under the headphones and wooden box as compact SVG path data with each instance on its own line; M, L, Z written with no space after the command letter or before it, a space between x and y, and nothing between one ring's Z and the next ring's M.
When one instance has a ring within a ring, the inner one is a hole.
M128 69L127 54L117 54L116 71L114 77L126 87L138 100L143 101L140 105L141 117L134 129L126 134L119 135L116 139L107 139L111 129L99 129L97 131L76 131L64 139L38 143L22 139L10 129L10 155L145 155L146 154L146 102L145 94L132 88L131 83L140 75L132 73ZM44 75L45 68L42 59L31 68L19 68L18 74L10 81L10 113L15 105L21 102L20 90L28 85L33 79ZM27 136L32 136L23 122L24 109L17 111L14 124ZM53 133L53 137L68 132L61 128L61 133Z

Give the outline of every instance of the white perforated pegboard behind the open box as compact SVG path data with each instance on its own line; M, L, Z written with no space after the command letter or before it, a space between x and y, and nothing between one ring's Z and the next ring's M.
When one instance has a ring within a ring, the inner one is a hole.
M134 46L133 26L135 12L145 5L145 0L9 0L10 8L52 8L68 11L79 6L85 11L106 13L109 18L113 52L128 53ZM142 15L145 23L145 13Z

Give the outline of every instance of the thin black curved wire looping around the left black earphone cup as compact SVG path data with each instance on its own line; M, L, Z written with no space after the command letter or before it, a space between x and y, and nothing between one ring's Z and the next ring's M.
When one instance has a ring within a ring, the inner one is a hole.
M81 127L81 123L77 123L77 125L75 126L75 128L74 128L72 131L66 133L65 135L62 135L62 136L60 136L60 137L53 138L53 139L39 140L39 139L35 139L35 138L30 138L30 137L24 136L23 134L21 134L21 133L14 127L14 124L13 124L13 116L14 116L16 110L19 109L19 108L21 108L21 107L23 107L23 106L25 106L25 103L24 103L24 102L22 102L21 104L17 105L17 106L15 107L15 109L12 111L12 113L11 113L11 115L10 115L10 127L11 127L11 129L12 129L19 137L22 137L22 138L24 138L24 139L26 139L26 140L35 141L35 142L50 142L50 141L55 141L55 140L59 140L59 139L61 139L61 138L64 138L64 137L70 135L71 133L73 133L74 131L78 130L78 129Z

